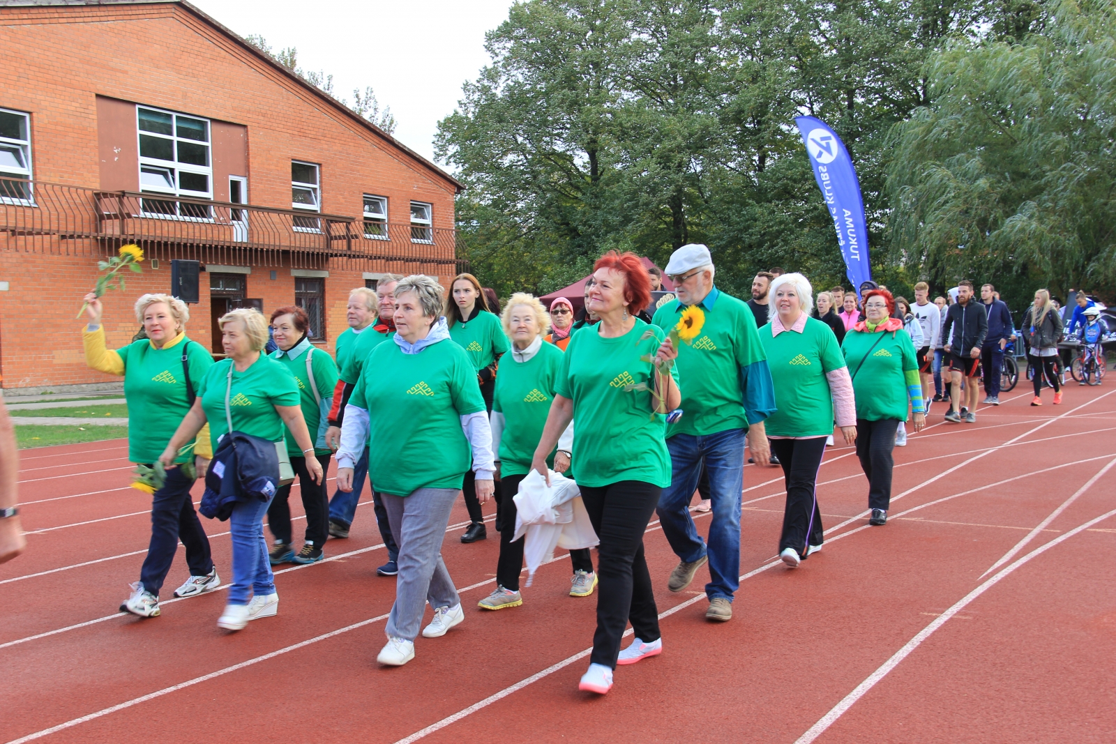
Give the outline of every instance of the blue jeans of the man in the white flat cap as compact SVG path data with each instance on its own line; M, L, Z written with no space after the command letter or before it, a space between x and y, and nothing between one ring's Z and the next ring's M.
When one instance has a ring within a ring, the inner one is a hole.
M686 562L709 555L710 582L705 596L724 597L730 602L740 587L740 487L744 467L744 429L694 436L675 434L666 441L673 474L671 485L658 499L663 534L680 559ZM690 500L701 477L702 462L709 473L713 522L709 544L698 534L690 515Z

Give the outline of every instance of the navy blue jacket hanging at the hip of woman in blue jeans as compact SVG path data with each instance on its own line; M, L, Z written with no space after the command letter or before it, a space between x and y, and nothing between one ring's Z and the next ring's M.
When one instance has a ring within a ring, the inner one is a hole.
M198 511L222 522L242 501L267 501L279 487L279 455L273 442L233 432L221 437L205 473L205 493Z

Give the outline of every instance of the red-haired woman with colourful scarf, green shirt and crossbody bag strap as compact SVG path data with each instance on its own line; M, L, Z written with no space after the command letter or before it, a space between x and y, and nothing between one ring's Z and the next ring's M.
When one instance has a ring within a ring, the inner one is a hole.
M918 359L903 321L892 318L895 300L886 289L864 293L864 320L845 335L841 351L856 397L856 455L868 476L870 524L887 523L892 500L895 432L906 421L907 399L914 431L926 425Z

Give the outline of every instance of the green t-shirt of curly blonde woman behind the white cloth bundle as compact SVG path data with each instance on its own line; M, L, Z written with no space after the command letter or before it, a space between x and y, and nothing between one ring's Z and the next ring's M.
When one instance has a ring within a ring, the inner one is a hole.
M503 414L503 436L500 437L500 473L526 475L531 471L535 448L542 438L542 427L555 397L555 379L561 369L562 350L543 342L527 361L500 365L492 394L492 410ZM554 455L547 464L554 466Z

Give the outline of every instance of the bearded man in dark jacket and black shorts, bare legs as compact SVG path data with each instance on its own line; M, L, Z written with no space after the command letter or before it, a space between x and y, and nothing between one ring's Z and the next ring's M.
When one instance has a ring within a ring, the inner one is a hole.
M977 423L977 378L980 376L980 351L988 336L988 312L973 292L968 279L958 282L958 301L950 306L942 323L942 350L950 360L952 390L945 421L958 424ZM965 379L965 397L961 397L961 379ZM960 404L968 402L968 407ZM960 406L955 410L954 406Z

